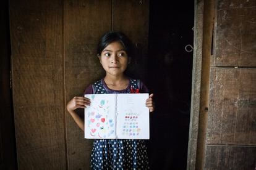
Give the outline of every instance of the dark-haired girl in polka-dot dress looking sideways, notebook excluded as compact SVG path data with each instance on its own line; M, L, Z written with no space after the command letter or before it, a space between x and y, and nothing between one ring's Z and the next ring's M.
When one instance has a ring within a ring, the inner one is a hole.
M148 92L142 81L124 74L130 63L132 50L132 43L123 33L104 34L98 44L97 53L106 76L88 86L84 94ZM145 101L150 112L155 108L152 97L153 94L150 94ZM67 111L83 131L86 131L83 120L74 110L86 108L88 105L90 100L85 97L74 97L67 103ZM144 140L95 139L91 156L92 169L149 169Z

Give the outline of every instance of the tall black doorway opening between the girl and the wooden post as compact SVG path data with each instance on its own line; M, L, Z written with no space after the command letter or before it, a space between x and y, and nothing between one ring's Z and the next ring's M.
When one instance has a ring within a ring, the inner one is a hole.
M194 1L150 1L149 23L150 166L186 169L193 52L185 47L193 46Z

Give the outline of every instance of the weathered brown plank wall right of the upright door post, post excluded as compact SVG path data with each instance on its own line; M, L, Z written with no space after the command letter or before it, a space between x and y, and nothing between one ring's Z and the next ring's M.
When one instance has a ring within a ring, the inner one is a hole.
M256 168L256 1L218 0L205 169Z

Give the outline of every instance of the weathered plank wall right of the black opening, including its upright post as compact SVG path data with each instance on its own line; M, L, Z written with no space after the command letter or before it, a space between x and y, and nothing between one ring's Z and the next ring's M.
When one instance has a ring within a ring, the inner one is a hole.
M187 169L255 169L256 3L196 3Z

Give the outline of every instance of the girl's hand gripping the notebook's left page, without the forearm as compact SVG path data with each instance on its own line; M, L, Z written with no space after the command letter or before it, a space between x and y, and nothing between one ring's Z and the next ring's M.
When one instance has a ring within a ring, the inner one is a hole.
M90 103L90 99L86 97L74 97L67 103L67 111L74 111L77 108L86 108Z

